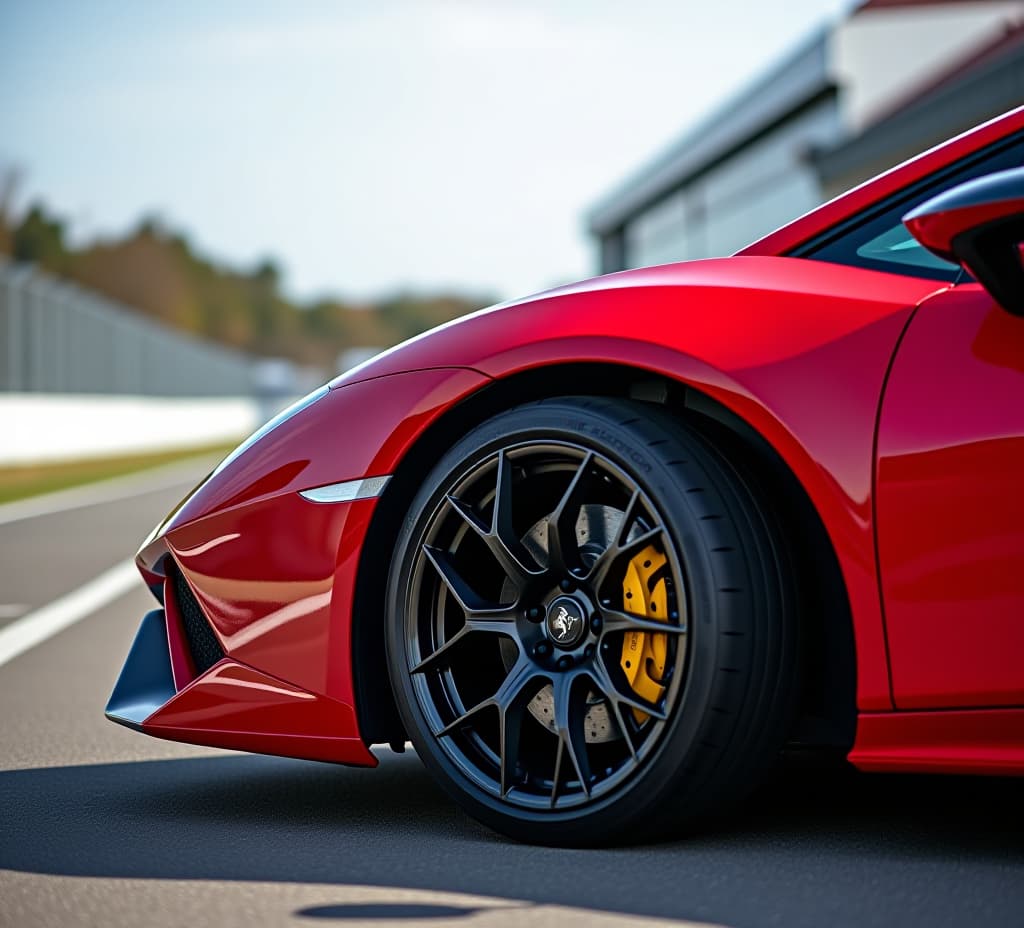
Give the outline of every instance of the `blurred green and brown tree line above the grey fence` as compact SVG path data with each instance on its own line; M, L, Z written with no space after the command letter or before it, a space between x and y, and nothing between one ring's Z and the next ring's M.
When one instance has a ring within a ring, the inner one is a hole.
M128 234L74 248L43 205L16 219L0 208L0 253L31 261L144 315L253 354L333 370L340 351L388 347L493 300L454 293L394 293L371 303L300 303L278 264L225 266L179 233L143 219Z

